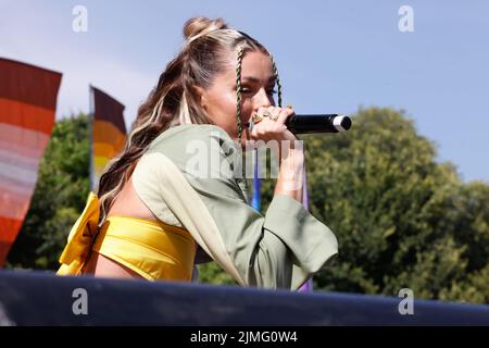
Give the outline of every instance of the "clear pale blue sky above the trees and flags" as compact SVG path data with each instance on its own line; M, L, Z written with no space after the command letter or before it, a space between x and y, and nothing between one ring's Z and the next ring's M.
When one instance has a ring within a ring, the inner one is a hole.
M88 32L75 33L75 5ZM401 5L414 32L401 33ZM273 53L298 113L404 109L465 181L489 183L489 1L0 0L0 57L63 73L57 117L88 110L88 84L129 125L196 15L223 17Z

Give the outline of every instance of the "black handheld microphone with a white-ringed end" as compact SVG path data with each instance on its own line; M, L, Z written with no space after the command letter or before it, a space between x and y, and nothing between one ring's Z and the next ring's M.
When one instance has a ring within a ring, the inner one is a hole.
M294 134L338 133L351 127L351 119L340 114L293 115L286 121Z

